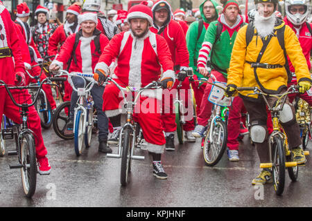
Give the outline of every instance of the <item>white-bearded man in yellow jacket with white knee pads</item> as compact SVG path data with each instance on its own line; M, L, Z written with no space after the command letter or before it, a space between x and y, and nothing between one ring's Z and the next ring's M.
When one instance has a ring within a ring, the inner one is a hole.
M300 93L311 87L311 77L306 59L295 32L285 26L284 21L275 17L278 0L254 0L256 13L254 21L241 28L237 34L227 76L225 95L232 96L236 87L261 88L264 93L280 94L287 89L286 55L295 67ZM289 76L289 77L288 77ZM250 115L252 127L251 139L254 142L261 163L270 162L268 149L268 128L266 120L266 104L261 96L248 95L250 91L242 91L245 108ZM270 105L277 99L268 99ZM282 110L287 117L281 120L288 137L288 144L293 152L293 160L304 164L306 159L300 138L300 129L295 119L295 108L286 100ZM252 184L266 184L272 177L272 171L263 169L260 175L252 180Z

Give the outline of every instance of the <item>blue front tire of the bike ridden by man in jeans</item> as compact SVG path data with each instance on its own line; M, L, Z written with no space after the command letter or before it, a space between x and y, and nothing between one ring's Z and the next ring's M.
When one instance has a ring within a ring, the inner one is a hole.
M81 110L77 111L75 128L73 133L73 140L75 146L75 153L79 156L83 151L83 112Z

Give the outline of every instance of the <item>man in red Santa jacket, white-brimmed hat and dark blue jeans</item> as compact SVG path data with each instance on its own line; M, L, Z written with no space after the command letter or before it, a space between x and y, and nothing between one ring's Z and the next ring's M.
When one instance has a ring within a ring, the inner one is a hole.
M58 57L56 57L50 66L50 70L58 71L63 69L71 55L73 61L69 67L69 73L94 73L94 67L98 63L98 58L102 54L109 40L99 30L96 29L98 22L97 16L93 12L85 12L78 15L80 30L67 37ZM75 42L78 40L76 48ZM81 77L73 77L75 88L83 88L85 81ZM112 153L112 149L107 146L108 119L103 112L103 91L104 88L95 84L91 90L91 95L96 107L98 116L98 151L103 153ZM73 90L71 94L71 110L67 128L73 128L74 108L78 101L78 94Z

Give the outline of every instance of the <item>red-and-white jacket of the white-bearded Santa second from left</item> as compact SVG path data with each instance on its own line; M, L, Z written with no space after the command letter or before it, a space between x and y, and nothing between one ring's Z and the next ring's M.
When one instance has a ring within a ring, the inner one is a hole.
M31 27L28 26L28 31L27 31L27 27L24 25L24 22L21 21L21 19L19 19L18 17L15 20L15 23L17 23L17 26L19 27L21 34L23 34L24 40L28 44L32 61L35 61L35 62L42 61L40 52L37 49L37 46L35 45L33 38L31 37Z

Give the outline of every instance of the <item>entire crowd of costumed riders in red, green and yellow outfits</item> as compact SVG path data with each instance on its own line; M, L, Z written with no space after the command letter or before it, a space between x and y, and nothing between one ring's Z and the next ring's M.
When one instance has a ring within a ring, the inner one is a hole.
M194 16L184 10L173 12L165 0L142 1L128 11L101 12L97 0L73 3L66 11L66 21L49 21L49 10L38 6L34 13L37 24L28 25L27 4L17 6L17 19L11 20L8 10L0 5L0 79L6 84L28 85L33 81L25 73L40 75L45 57L51 57L50 73L94 73L98 82L91 93L98 117L98 151L112 153L112 145L121 137L122 97L114 84L105 84L112 77L123 86L142 88L159 81L162 89L146 90L139 104L148 102L148 113L138 111L135 120L142 128L147 150L153 158L153 175L166 179L162 164L164 151L175 151L175 93L185 90L184 105L196 101L196 121L188 119L184 126L187 142L196 142L207 129L212 104L208 102L211 84L190 81L184 71L193 69L193 79L227 83L225 96L234 97L227 124L227 157L239 161L239 140L250 133L261 163L269 162L268 135L272 122L263 99L238 93L238 87L261 88L267 94L280 94L292 84L300 86L300 97L312 104L306 91L311 88L310 56L312 50L311 15L306 0L286 0L286 16L277 12L278 0L254 0L248 16L241 13L236 0L205 0ZM295 73L295 75L292 75ZM42 73L41 79L47 73ZM92 80L92 79L87 79ZM73 77L76 88L85 83ZM57 108L51 86L43 86L52 113ZM193 90L193 97L191 97ZM5 114L19 123L19 109L12 104L4 88L0 88L0 116ZM239 95L238 95L239 94ZM20 96L30 102L30 96ZM170 99L166 99L170 96ZM281 111L281 125L297 164L306 162L302 151L300 129L295 118L294 95L290 95ZM71 102L66 133L73 133L74 108L78 93L64 82L64 101ZM270 99L270 104L276 99ZM159 108L160 107L160 108ZM160 110L160 111L159 111ZM250 130L245 115L250 117ZM29 109L29 128L36 134L36 155L40 174L49 174L51 166L42 139L40 117ZM252 184L265 184L272 178L270 169L263 169Z

